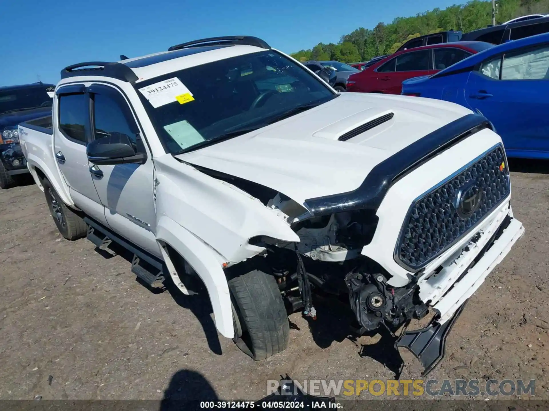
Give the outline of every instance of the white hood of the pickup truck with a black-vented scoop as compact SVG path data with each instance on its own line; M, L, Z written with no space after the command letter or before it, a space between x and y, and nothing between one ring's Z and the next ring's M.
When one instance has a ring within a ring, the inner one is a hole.
M346 141L338 138L381 116L393 117ZM450 102L341 93L313 109L176 158L270 187L303 204L357 189L378 163L471 113Z

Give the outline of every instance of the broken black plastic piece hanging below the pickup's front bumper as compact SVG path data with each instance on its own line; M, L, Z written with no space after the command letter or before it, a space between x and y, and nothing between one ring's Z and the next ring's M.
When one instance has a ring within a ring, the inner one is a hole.
M468 301L468 300L467 300ZM444 358L444 348L446 336L461 315L463 308L467 304L465 301L453 314L449 321L441 324L438 318L433 318L430 324L419 330L405 331L396 340L395 347L407 348L421 361L424 367L423 377L429 374L433 368Z

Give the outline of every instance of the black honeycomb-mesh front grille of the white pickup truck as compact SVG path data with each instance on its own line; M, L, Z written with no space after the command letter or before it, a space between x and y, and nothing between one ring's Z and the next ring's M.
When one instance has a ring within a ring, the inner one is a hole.
M420 269L472 230L511 191L504 162L503 147L497 146L414 202L402 226L395 250L396 259L412 270ZM456 209L458 193L472 186L481 192L480 206L467 216L461 209L460 216Z

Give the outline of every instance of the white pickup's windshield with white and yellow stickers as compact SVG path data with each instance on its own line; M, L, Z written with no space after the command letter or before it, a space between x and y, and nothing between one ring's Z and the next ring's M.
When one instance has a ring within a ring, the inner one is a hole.
M189 67L135 87L172 154L250 132L339 95L274 51Z

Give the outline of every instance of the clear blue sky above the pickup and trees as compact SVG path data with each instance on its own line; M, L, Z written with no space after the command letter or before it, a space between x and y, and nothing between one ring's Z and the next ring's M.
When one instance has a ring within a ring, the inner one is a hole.
M57 83L61 68L116 61L185 41L263 38L286 53L337 43L357 27L441 9L451 0L0 0L0 85ZM40 76L40 77L38 77Z

